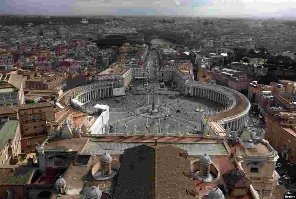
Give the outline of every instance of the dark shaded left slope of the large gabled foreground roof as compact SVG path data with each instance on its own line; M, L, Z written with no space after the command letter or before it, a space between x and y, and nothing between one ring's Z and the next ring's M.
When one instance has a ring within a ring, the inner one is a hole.
M113 199L154 197L155 149L147 145L125 150Z

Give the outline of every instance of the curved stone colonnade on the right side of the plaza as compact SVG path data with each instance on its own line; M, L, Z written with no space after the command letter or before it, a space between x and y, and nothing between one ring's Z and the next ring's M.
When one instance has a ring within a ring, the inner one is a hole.
M212 112L202 113L202 132L207 122L218 122L225 130L238 131L240 126L249 120L250 101L238 91L209 83L187 81L185 83L187 94L192 97L210 99L224 105L226 108Z

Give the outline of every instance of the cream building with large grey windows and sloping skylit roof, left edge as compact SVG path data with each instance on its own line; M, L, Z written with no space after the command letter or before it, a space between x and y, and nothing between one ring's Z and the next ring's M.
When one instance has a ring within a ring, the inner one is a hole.
M24 101L24 80L17 74L0 74L0 106L18 106Z

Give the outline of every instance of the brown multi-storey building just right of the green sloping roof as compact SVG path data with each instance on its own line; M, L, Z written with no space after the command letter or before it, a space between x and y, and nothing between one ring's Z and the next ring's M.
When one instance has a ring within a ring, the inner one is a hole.
M54 103L39 102L19 106L20 128L22 134L22 149L34 149L46 139L50 132L49 122L55 121Z

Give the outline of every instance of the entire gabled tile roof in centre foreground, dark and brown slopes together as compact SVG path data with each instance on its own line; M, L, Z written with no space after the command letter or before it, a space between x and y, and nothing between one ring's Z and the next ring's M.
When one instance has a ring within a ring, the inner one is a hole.
M113 198L195 198L186 193L194 184L183 174L190 171L189 160L179 155L185 152L170 145L125 150Z

